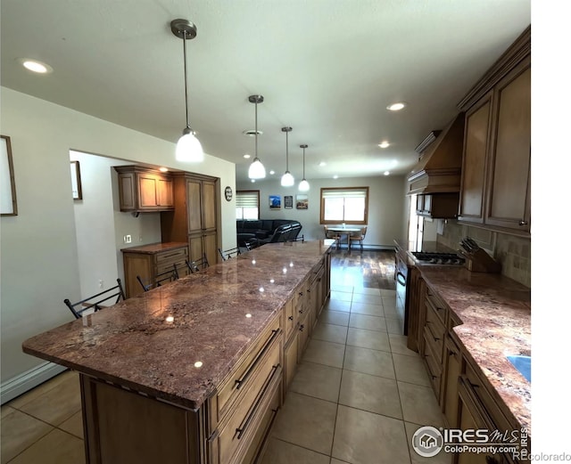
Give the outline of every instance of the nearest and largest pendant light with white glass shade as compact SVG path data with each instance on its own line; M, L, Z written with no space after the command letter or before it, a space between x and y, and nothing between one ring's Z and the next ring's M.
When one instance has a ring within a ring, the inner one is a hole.
M186 127L182 131L182 136L177 142L176 158L178 161L199 163L204 160L203 146L194 136L194 131L190 127L188 118L188 86L186 85L186 40L196 37L196 26L188 20L170 21L170 30L178 38L182 38L183 53L185 58L185 105L186 105Z

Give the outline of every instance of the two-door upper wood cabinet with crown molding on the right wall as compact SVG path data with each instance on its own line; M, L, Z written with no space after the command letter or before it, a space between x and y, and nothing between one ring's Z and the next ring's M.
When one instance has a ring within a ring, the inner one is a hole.
M529 235L531 28L475 85L466 112L459 221Z

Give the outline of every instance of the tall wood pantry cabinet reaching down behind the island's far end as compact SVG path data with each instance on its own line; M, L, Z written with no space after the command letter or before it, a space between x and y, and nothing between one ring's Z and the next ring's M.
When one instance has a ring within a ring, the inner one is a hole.
M175 173L174 211L161 213L161 234L165 241L187 241L191 260L206 255L218 262L219 181L217 178Z

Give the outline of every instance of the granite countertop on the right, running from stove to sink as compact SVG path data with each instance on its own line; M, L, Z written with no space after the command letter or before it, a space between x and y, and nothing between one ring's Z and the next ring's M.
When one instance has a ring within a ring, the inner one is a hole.
M531 290L500 274L463 266L418 266L461 325L453 328L473 364L504 403L503 412L531 434L531 384L508 354L531 354Z

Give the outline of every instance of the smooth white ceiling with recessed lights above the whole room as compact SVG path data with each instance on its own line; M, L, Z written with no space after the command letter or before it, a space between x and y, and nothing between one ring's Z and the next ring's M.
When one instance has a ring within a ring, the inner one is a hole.
M191 126L204 151L247 179L254 154L276 176L404 174L415 147L531 23L530 0L3 0L2 85L176 142ZM21 58L51 65L39 76ZM386 110L405 101L405 110ZM377 143L391 142L387 149ZM174 150L173 150L174 157ZM326 167L319 167L326 161Z

